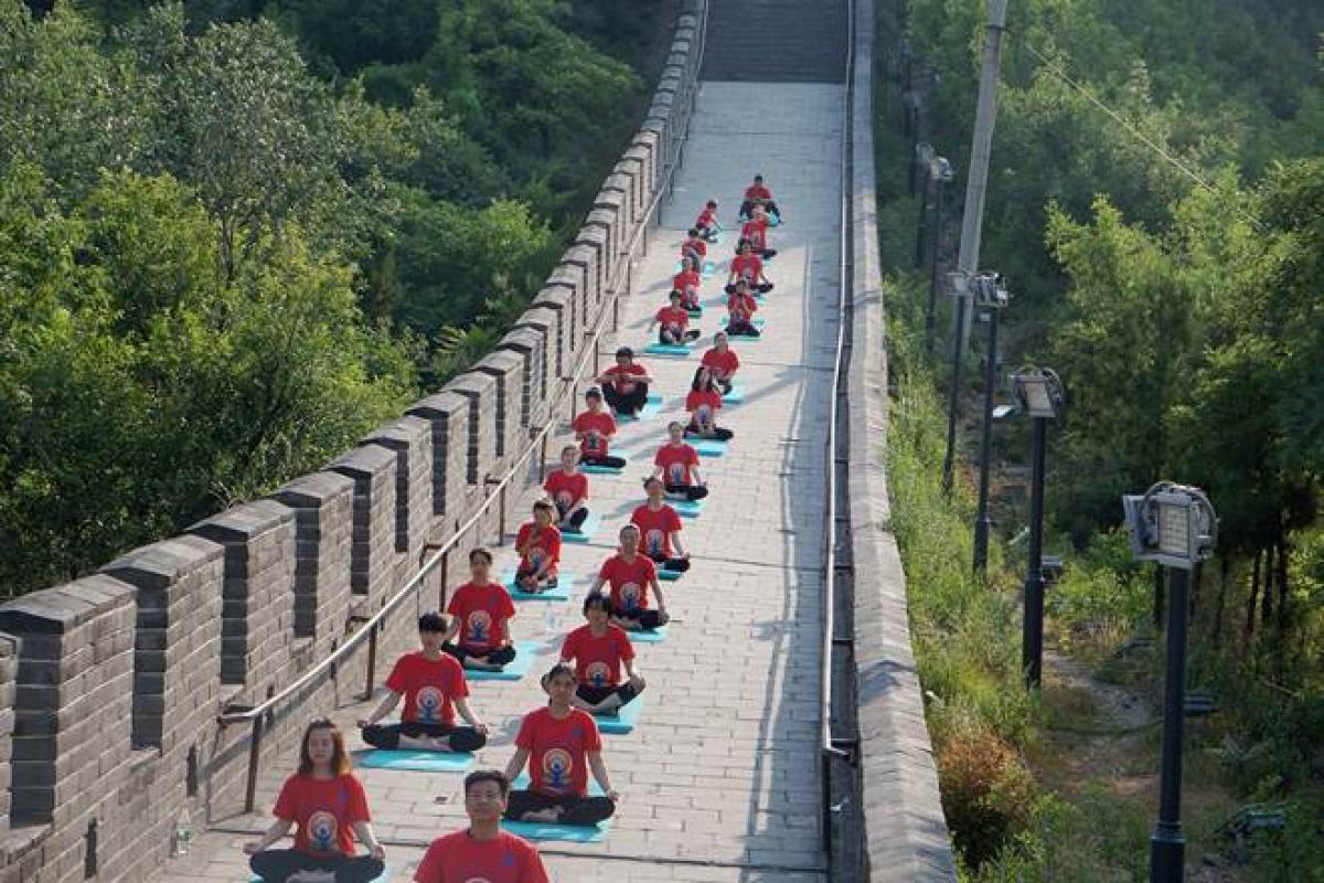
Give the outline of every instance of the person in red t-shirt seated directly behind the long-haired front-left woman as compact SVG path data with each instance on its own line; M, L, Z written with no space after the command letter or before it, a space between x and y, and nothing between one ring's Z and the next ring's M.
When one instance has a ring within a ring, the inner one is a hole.
M446 617L440 613L418 617L422 650L406 653L396 661L387 678L391 692L359 721L363 741L387 751L478 751L487 744L487 724L469 707L465 669L442 651L446 631ZM400 723L379 724L395 711L401 698L405 708ZM457 711L469 723L467 727L455 725Z

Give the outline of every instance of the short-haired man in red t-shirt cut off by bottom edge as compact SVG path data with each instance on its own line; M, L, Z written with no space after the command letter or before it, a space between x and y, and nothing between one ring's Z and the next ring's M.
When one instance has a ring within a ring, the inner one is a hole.
M438 837L414 871L414 883L548 883L538 847L500 829L510 780L496 769L465 776L469 827Z

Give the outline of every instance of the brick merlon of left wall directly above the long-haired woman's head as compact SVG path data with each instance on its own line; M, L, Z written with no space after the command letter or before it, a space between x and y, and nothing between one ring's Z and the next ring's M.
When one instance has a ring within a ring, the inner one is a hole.
M294 637L326 655L350 617L354 479L312 473L271 498L294 511Z

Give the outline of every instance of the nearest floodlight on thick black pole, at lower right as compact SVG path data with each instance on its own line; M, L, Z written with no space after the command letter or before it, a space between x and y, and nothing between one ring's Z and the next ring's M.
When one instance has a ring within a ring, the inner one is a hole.
M1214 553L1218 516L1197 487L1158 482L1121 498L1131 553L1168 569L1168 659L1164 674L1162 764L1158 822L1149 838L1152 883L1180 883L1186 838L1181 834L1181 724L1186 690L1186 594L1190 572Z

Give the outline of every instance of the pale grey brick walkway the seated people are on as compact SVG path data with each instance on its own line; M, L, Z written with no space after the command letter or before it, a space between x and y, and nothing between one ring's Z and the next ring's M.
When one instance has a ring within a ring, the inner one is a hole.
M826 879L817 703L839 102L837 85L706 83L674 203L637 269L639 289L622 311L620 342L641 349L669 290L682 230L707 197L722 201L730 226L748 179L763 172L788 216L788 225L771 237L780 254L768 267L777 290L761 310L767 338L736 347L747 395L723 414L736 438L726 457L703 463L712 498L699 519L686 522L694 568L678 582L663 582L677 622L665 643L639 649L649 679L641 724L630 736L605 736L605 759L624 800L602 843L544 850L563 883ZM706 285L710 299L720 291L732 244L728 233L711 253L719 271ZM723 312L710 308L702 320L704 347ZM581 622L579 600L609 555L616 528L641 500L639 477L649 471L666 421L682 413L698 353L646 364L659 379L663 410L622 426L616 453L630 459L624 477L591 477L604 527L592 544L565 547L563 568L580 580L572 602L556 608L557 631ZM512 559L508 545L499 549L498 569ZM515 638L545 638L544 610L542 604L522 605ZM553 651L544 642L535 671L549 665ZM494 728L479 765L503 767L520 716L543 702L536 676L471 688L473 706ZM347 707L336 718L350 725L364 711ZM260 808L270 808L287 772L263 770ZM377 834L388 843L392 879L412 879L422 845L463 823L461 776L360 776ZM260 831L269 821L265 813L241 817L203 834L164 878L246 879L238 845L249 835L241 831Z

